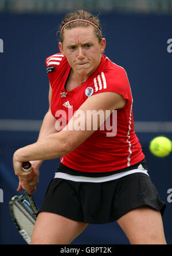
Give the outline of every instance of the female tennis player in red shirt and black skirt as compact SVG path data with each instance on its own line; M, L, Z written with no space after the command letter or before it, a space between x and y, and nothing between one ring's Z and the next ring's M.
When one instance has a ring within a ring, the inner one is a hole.
M166 206L134 132L126 71L103 54L105 39L91 13L68 14L60 39L60 53L46 59L50 107L38 141L14 153L18 191L28 193L36 191L42 161L60 157L31 244L70 244L88 223L111 221L131 244L166 244Z

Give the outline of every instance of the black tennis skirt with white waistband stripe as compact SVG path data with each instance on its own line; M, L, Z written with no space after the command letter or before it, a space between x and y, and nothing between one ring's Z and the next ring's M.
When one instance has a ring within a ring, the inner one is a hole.
M69 171L61 163L58 169L60 172L62 169ZM76 173L75 170L73 172ZM166 208L150 176L136 172L98 183L54 178L46 191L40 212L60 214L83 223L105 224L144 205L160 211L162 216Z

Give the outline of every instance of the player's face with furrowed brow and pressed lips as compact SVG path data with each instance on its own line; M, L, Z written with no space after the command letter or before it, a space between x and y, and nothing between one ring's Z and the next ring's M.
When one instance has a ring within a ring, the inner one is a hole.
M73 71L80 76L89 76L100 64L105 39L99 42L93 26L64 29L64 42L59 43L59 48Z

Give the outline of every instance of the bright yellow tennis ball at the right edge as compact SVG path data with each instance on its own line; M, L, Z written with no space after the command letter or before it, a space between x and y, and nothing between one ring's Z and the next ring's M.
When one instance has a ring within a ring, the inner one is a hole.
M156 137L150 142L150 151L158 157L168 156L172 151L172 142L167 137Z

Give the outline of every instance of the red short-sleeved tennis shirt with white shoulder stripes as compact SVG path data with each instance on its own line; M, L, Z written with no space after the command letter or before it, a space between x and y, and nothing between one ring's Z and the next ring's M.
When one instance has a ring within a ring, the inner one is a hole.
M142 147L134 131L132 94L123 67L102 55L96 71L82 85L69 92L65 89L71 71L67 58L58 53L51 55L46 58L46 67L52 86L51 111L57 119L57 130L63 129L73 113L92 95L116 92L127 99L126 105L115 110L87 140L68 155L61 157L62 164L81 172L110 172L144 159Z

